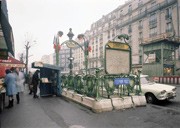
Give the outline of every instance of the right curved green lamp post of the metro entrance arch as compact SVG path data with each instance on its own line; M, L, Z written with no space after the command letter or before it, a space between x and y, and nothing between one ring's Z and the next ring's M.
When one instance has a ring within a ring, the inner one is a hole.
M85 58L85 70L86 70L86 75L87 75L87 69L88 69L88 54L89 54L89 41L85 39L84 34L79 34L77 37L79 40L83 39L84 41L84 58Z

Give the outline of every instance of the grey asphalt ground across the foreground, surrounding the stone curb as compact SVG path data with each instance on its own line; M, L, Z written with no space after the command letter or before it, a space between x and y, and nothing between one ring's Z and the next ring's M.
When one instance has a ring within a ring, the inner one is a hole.
M168 106L148 104L97 114L63 97L33 99L27 92L21 94L20 104L1 114L1 128L179 128L179 125L180 111Z

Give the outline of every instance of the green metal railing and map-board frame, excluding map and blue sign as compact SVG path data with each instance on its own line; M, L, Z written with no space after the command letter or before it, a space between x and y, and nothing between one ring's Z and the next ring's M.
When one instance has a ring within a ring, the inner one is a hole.
M123 38L124 40L128 39L127 35L121 35L117 37ZM138 75L131 74L131 66L132 66L131 47L126 42L122 43L117 41L109 41L105 46L105 52L107 52L106 50L109 49L128 53L128 57L125 58L128 59L129 61L127 73L118 72L114 74L109 74L107 72L107 69L91 68L87 70L95 70L95 74L62 76L61 79L62 79L63 87L72 89L79 94L83 94L96 99L111 98L111 96L113 95L119 97L129 96L131 94L140 95L141 94L140 73ZM114 55L114 56L118 56L118 55ZM107 61L106 59L104 62ZM124 68L124 67L118 67L118 68ZM105 74L100 75L100 73L102 72ZM116 78L128 78L129 84L115 86L114 80Z

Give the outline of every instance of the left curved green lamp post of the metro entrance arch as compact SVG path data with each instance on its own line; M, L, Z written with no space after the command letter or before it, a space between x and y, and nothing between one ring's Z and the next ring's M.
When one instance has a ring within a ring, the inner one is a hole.
M61 37L63 35L62 31L58 31L57 35L54 36L54 50L55 50L55 54L56 54L56 65L59 66L59 51L60 51L60 42L59 42L59 37Z

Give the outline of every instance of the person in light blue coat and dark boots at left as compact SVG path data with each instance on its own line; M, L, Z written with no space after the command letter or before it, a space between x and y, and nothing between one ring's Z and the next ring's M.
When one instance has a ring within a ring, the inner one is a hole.
M6 87L6 95L9 98L9 105L6 108L12 108L14 98L13 96L17 94L16 87L16 74L12 73L10 69L6 69L6 76L4 79L5 87Z

